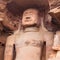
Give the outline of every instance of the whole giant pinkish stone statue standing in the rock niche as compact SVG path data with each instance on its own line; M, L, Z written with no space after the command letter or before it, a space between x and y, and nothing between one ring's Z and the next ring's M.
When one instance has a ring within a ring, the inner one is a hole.
M31 8L24 11L22 30L18 35L18 37L15 34L7 38L4 60L13 60L14 45L16 49L15 60L41 60L44 41L46 41L46 54L52 53L54 34L44 28L39 10Z

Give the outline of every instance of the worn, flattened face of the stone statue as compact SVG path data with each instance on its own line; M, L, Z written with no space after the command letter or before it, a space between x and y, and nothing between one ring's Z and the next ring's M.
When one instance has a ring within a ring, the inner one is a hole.
M34 25L38 21L38 10L36 9L27 9L23 13L22 25Z

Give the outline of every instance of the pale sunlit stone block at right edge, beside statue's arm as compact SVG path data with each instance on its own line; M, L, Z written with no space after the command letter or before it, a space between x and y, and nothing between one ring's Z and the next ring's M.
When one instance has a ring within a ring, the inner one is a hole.
M60 50L60 31L57 31L56 35L54 36L54 44L52 48L57 51Z

